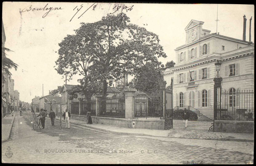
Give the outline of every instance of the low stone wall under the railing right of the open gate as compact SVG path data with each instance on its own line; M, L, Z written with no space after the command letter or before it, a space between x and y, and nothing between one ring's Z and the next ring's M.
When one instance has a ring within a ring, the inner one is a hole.
M224 121L215 120L216 132L254 133L254 121Z

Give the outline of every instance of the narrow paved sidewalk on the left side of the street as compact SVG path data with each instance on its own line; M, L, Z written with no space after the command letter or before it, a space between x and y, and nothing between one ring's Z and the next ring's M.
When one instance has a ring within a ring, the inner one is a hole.
M11 127L17 112L14 112L14 116L11 114L2 119L2 142L7 141L10 136Z

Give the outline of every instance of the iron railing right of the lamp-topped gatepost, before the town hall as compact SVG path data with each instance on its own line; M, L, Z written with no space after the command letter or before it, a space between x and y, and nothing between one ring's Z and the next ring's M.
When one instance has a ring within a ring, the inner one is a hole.
M221 91L218 101L217 120L253 121L253 90Z

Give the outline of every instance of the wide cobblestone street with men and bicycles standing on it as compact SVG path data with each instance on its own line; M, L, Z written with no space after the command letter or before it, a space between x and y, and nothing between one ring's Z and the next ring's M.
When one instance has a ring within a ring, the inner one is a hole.
M45 130L34 131L32 119L29 112L15 117L10 139L2 143L2 163L253 164L253 142L123 136L74 124L60 129L49 118Z

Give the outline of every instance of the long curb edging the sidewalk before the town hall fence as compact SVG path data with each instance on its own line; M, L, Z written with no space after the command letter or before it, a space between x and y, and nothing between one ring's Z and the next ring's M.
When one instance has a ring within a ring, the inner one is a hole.
M49 117L47 117L47 118L49 118ZM57 118L55 118L55 119L59 120ZM106 130L106 129L100 129L100 128L96 128L96 127L92 127L92 126L87 126L85 124L80 124L80 123L76 123L76 122L69 122L69 123L76 124L78 126L91 128L91 129L94 129L94 130L99 130L99 131L109 132L109 133L113 133L113 134L118 134L118 135L149 136L149 137L164 137L164 138L182 138L182 137L152 136L152 135L143 134L143 133L117 132L117 131L111 131L111 130ZM215 141L254 142L254 140L251 140L251 139L237 139L237 138L182 138L182 139L205 139L205 140L215 140Z

